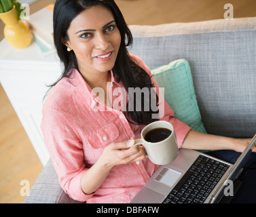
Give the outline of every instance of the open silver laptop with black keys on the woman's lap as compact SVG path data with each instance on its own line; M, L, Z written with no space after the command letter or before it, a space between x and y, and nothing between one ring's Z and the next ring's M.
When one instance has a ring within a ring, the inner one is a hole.
M256 145L256 134L231 164L191 149L161 165L131 203L218 203L242 172ZM232 195L231 195L232 196Z

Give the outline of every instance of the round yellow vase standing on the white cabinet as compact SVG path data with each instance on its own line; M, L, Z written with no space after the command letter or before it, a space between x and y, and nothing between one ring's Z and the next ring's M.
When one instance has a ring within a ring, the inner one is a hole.
M10 45L21 49L31 44L31 31L24 22L18 20L15 6L9 12L0 13L0 18L5 23L3 35Z

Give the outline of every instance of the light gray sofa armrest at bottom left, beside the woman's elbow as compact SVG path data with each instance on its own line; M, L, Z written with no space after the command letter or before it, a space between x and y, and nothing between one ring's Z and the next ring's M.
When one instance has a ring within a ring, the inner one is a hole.
M50 159L39 174L24 203L81 203L69 197L58 183L58 175Z

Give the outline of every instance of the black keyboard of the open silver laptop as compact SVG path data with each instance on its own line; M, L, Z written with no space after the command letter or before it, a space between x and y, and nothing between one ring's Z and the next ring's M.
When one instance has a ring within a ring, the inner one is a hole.
M230 165L200 155L163 203L204 203Z

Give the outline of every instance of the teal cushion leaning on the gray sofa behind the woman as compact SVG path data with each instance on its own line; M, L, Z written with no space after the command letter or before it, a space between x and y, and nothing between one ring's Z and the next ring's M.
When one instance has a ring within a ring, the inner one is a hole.
M202 123L191 70L187 60L180 59L151 70L175 117L192 129L206 133Z

